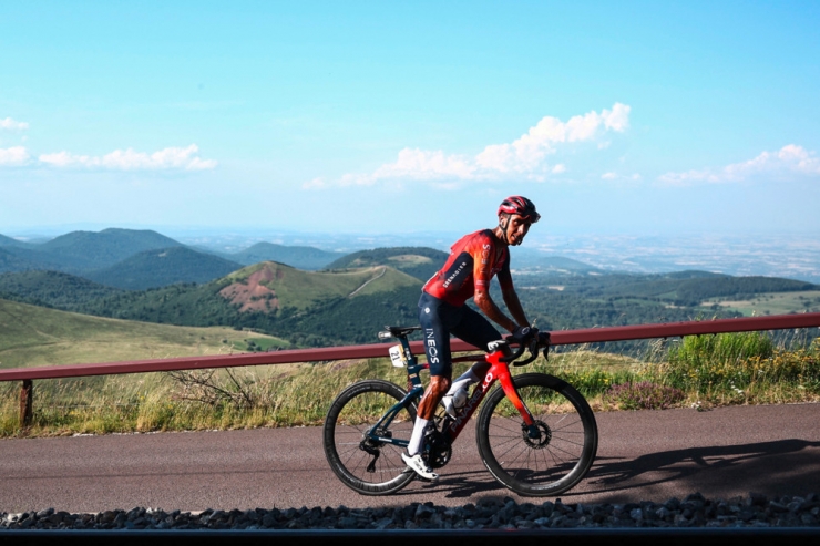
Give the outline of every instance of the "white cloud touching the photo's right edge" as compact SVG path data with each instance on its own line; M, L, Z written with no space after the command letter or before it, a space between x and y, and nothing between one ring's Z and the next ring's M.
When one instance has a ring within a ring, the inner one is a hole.
M721 184L744 182L768 176L789 178L793 176L820 175L820 158L817 153L802 146L788 144L776 152L762 152L754 159L734 163L719 169L694 169L685 173L666 173L658 181L669 185L690 185L696 183Z

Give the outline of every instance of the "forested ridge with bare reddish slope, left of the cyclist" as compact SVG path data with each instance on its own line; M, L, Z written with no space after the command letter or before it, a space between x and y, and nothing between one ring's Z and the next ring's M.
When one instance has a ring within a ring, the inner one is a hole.
M387 267L311 272L275 262L204 285L144 291L65 274L0 276L0 293L18 301L143 322L252 328L305 346L373 341L383 324L416 321L420 286Z

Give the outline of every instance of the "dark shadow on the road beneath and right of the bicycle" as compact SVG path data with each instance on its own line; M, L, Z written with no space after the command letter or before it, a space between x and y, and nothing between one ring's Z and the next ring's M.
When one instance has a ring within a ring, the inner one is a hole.
M605 494L609 502L632 498L633 493L657 486L675 487L685 494L700 491L718 497L747 494L767 496L820 491L820 442L779 440L713 447L689 447L647 453L637 459L597 457L586 477L562 497ZM447 473L422 491L444 493L448 498L512 494L485 468ZM414 495L406 491L399 495Z

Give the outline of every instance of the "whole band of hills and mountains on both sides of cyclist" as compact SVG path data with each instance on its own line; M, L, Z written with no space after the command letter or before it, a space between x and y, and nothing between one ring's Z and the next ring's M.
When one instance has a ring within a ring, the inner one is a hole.
M427 247L340 256L268 243L217 256L127 229L40 244L0 237L0 299L145 322L250 328L297 346L363 343L385 324L418 322L420 288L447 258ZM525 249L513 251L512 266L527 318L547 329L734 316L740 311L724 306L728 299L767 293L793 293L773 298L793 301L775 312L820 307L820 287L782 278L617 274ZM491 292L503 308L498 288Z

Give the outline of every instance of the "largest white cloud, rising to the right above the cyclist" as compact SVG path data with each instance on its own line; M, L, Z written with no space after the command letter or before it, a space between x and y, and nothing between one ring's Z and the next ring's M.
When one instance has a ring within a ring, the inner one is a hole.
M370 174L346 174L336 184L347 186L372 185L382 181L426 181L452 185L455 182L510 177L544 181L550 174L566 171L563 164L551 165L546 161L549 155L560 146L593 141L607 131L623 133L629 125L629 110L626 104L615 103L612 110L576 115L566 122L545 116L515 141L490 144L474 156L407 147L399 152L393 163L381 165ZM303 187L319 186L311 181Z

